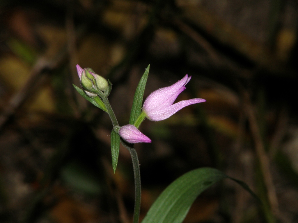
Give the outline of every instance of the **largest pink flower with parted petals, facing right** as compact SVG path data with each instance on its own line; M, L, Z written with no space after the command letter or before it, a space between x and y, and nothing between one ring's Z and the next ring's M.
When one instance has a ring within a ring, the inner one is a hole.
M185 75L184 78L175 84L153 91L146 98L143 105L143 111L145 112L146 117L152 121L161 121L167 119L186 106L206 101L202 98L193 98L173 104L178 95L186 89L185 85L190 81L190 78L191 76L188 77L188 75Z

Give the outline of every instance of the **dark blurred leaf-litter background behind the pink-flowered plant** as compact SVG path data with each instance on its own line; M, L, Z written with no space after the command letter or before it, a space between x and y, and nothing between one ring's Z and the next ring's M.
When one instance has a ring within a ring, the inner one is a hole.
M298 3L291 0L0 1L0 222L132 222L131 158L111 167L108 115L75 92L76 64L113 83L128 123L145 97L186 73L179 100L204 98L140 129L141 219L187 171L225 180L185 223L298 222Z

